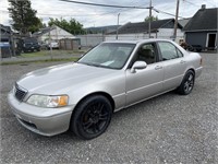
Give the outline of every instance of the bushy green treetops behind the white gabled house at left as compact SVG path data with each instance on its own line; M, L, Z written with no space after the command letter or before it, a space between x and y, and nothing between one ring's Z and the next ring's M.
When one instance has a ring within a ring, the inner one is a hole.
M49 26L57 25L71 34L84 34L83 25L74 19L66 21L65 19L52 19L50 17L48 22Z

